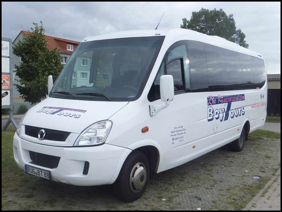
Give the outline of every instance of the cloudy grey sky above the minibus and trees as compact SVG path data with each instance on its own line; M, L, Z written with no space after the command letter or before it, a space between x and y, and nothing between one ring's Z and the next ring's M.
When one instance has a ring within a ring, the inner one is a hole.
M281 2L3 2L2 37L13 41L32 23L45 34L73 41L109 32L180 28L201 8L233 14L249 49L262 54L268 74L280 74Z

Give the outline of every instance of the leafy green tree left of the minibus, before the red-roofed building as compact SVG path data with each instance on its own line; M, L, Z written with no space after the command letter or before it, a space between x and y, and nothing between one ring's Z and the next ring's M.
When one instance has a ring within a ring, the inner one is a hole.
M45 29L33 23L26 37L13 47L13 53L21 58L19 65L15 65L16 79L19 84L14 84L20 97L31 104L40 102L48 94L48 76L56 80L63 64L61 64L60 49L49 50L45 40Z

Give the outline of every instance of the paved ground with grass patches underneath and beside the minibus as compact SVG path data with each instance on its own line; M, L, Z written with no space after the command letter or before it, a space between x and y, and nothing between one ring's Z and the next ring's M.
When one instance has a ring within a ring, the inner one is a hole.
M79 187L28 175L24 185L15 180L14 188L2 188L2 210L241 210L279 169L280 143L248 141L239 153L221 147L151 176L132 203L116 198L111 185Z

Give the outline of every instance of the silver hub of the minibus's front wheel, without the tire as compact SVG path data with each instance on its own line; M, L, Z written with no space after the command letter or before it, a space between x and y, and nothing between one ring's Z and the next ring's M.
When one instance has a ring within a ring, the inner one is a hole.
M129 177L129 186L133 193L138 193L142 190L146 183L147 171L143 163L138 162L131 170Z

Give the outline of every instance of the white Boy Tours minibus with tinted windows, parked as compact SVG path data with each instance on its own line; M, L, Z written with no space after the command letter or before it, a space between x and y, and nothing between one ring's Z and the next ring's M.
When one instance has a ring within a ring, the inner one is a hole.
M16 164L66 184L114 184L126 202L152 173L226 144L242 151L266 118L263 56L180 28L87 37L48 90L17 127Z

